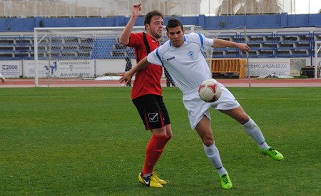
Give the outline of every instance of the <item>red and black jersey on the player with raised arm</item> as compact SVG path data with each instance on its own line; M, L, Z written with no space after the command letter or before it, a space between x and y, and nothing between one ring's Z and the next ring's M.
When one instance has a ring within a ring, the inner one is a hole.
M150 47L150 51L154 51L159 42L154 38L146 34L146 39ZM135 48L136 62L138 63L145 56L148 55L146 44L144 42L143 33L131 33L130 41L127 46ZM133 83L133 89L131 91L131 99L138 98L140 96L153 94L162 95L161 88L161 76L163 74L163 67L150 64L147 68L138 71Z

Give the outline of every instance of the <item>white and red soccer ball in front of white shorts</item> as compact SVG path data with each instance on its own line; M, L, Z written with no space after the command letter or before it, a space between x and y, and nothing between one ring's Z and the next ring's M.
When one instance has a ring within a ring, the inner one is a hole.
M218 81L215 79L209 79L203 81L198 88L198 94L200 98L205 102L212 103L220 98L222 89L218 86Z

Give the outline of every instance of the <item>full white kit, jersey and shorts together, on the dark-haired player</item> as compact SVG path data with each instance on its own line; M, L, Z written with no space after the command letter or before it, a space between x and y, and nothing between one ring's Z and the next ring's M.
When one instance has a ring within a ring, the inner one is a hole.
M175 48L170 41L148 54L148 62L164 66L175 83L183 92L183 103L188 110L190 127L195 129L204 115L210 119L209 108L216 110L231 110L240 106L237 100L223 84L222 95L213 103L206 103L198 96L200 83L212 78L212 73L202 52L213 45L213 39L197 33L184 36L184 43Z

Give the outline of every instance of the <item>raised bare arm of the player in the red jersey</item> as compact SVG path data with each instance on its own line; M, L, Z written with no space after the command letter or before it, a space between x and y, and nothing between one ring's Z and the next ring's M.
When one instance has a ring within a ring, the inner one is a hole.
M129 19L128 24L125 26L125 29L123 29L123 32L121 33L121 36L119 37L119 43L125 46L128 45L131 31L133 31L133 26L135 25L138 16L141 16L141 4L133 5L131 19Z

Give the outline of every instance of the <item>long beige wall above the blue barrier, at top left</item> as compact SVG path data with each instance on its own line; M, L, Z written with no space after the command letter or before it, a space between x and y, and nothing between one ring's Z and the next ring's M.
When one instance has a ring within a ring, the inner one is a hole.
M200 14L201 0L143 0L142 14L158 9L166 16ZM0 1L0 17L106 17L129 16L132 0L25 0Z

